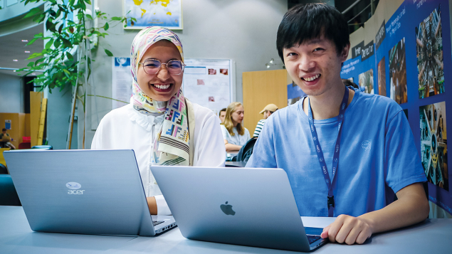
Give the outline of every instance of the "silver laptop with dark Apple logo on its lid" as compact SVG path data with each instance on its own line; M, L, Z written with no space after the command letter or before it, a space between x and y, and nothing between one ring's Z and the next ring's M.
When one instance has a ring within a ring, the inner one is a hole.
M295 251L326 243L322 228L303 226L283 169L151 170L185 238Z

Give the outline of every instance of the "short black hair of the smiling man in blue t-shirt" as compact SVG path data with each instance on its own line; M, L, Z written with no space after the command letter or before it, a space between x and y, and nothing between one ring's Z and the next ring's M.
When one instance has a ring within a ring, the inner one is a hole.
M325 38L336 46L337 54L350 43L344 16L327 4L298 4L283 17L276 35L276 48L284 62L283 48L300 46L312 39Z

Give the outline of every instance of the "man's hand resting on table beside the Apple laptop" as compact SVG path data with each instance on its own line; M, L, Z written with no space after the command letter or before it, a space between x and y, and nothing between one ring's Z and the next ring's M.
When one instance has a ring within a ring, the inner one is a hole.
M362 218L342 214L335 222L323 228L320 236L330 239L332 243L362 244L372 236L372 227Z

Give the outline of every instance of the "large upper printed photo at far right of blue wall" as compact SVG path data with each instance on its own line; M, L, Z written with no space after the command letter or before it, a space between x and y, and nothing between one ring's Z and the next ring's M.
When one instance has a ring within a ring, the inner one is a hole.
M416 53L419 98L443 93L443 33L440 6L416 27Z

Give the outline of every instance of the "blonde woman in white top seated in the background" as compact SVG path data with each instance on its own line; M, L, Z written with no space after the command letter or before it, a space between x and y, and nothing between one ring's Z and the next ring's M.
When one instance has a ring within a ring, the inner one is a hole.
M226 152L238 152L250 139L250 132L242 125L244 113L240 102L232 102L226 108L226 117L221 125Z

